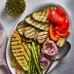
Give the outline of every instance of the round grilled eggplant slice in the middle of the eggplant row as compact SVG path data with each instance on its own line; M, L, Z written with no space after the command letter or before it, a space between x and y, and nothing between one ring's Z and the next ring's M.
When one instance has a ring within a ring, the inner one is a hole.
M33 38L35 38L35 35L36 35L35 28L33 28L32 26L25 27L24 36L26 38L33 39Z

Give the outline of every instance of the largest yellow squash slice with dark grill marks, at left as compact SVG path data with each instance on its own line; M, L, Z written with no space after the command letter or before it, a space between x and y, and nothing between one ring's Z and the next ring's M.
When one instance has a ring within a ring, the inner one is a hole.
M24 50L20 35L18 34L17 31L14 31L12 34L11 49L17 63L21 66L21 68L24 71L27 71L29 69L28 66L29 56L26 53L26 50Z

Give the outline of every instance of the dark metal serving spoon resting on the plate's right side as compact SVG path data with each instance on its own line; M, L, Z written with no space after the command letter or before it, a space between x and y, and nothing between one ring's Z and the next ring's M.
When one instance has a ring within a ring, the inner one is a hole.
M65 45L63 47L59 48L59 54L56 56L56 58L53 61L55 61L55 60L61 60L62 58L64 58L67 55L67 53L69 52L70 48L71 48L70 43L68 41L66 41ZM48 70L49 70L50 67L51 66L48 67L48 69L45 71L44 74L48 73Z

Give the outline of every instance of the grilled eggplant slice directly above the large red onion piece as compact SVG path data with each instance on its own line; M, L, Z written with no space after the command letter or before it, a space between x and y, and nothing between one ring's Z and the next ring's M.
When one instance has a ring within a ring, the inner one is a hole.
M48 32L42 31L42 32L38 33L37 40L38 40L39 43L44 43L46 41L47 37L48 37Z

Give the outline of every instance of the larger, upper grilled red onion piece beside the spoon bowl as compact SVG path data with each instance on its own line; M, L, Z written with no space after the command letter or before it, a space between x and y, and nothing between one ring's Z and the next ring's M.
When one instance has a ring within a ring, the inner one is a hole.
M47 40L43 44L42 54L49 55L49 56L51 56L51 58L54 59L56 57L56 55L58 54L58 48L57 48L56 44L53 41Z

